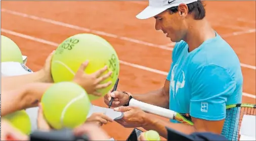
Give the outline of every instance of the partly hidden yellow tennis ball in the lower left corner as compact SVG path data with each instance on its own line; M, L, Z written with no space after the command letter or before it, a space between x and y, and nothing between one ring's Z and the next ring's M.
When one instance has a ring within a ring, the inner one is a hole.
M31 122L25 110L16 111L3 117L24 134L31 132Z

